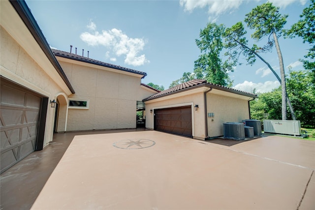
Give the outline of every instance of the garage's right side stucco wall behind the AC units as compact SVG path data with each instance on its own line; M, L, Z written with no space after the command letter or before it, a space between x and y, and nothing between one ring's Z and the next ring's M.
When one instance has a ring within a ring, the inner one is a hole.
M249 119L248 100L233 98L211 92L207 93L207 113L209 137L223 136L224 122L242 122Z

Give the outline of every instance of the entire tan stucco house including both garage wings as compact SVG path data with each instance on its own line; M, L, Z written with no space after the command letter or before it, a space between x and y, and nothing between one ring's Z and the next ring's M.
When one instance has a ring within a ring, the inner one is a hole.
M205 140L250 118L256 96L204 80L158 91L145 72L52 50L25 1L0 1L1 173L54 132L146 127ZM145 105L145 108L144 108Z

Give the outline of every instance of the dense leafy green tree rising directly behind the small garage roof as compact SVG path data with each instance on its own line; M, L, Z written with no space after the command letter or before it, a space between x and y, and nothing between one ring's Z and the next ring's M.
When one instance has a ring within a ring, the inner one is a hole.
M225 27L215 23L209 23L207 27L200 30L200 40L196 39L196 45L201 55L194 62L194 76L196 79L206 79L222 86L231 86L228 76L233 71L234 63L229 60L221 60L221 51L224 48L222 37Z

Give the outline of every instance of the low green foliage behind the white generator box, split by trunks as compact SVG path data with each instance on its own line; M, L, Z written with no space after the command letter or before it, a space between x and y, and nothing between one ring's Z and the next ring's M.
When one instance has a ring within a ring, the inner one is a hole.
M315 127L315 83L311 71L289 71L287 91L297 120L302 126ZM281 88L258 94L251 101L251 117L258 120L281 120ZM288 116L290 119L290 116Z

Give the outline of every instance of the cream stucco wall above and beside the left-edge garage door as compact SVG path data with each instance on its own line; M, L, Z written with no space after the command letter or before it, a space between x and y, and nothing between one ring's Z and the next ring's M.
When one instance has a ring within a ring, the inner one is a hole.
M53 100L54 97L62 92L55 81L48 76L45 69L42 69L35 60L32 59L32 55L29 55L25 49L18 44L15 39L1 27L0 29L0 65L1 76L26 87L29 90L33 90L49 99ZM45 57L47 62L49 60ZM55 109L48 104L44 146L46 146L53 137L53 122L54 122Z

